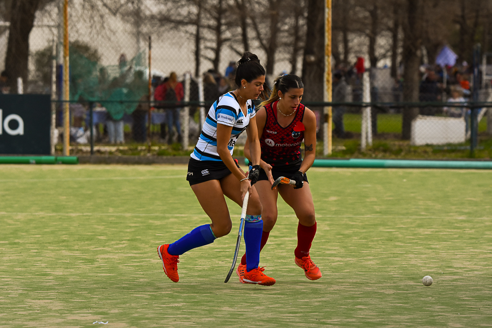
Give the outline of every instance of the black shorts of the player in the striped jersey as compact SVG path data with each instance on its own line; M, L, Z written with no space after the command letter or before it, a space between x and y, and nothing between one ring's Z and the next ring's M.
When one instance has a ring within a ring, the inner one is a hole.
M234 161L239 167L237 159ZM231 170L222 161L198 161L190 158L186 180L189 182L189 185L193 185L208 180L222 179L230 174Z

